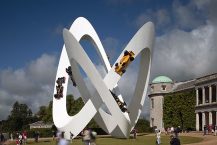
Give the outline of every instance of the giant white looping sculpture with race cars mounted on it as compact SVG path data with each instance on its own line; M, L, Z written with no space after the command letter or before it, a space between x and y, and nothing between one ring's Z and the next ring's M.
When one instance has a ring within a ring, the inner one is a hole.
M118 98L122 100L117 85L122 74L115 72L115 65L110 66L100 39L88 20L83 17L77 18L69 31L67 29L63 30L63 37L65 45L62 49L56 76L56 80L59 78L60 84L55 84L54 87L54 94L57 94L59 87L59 89L62 89L63 95L59 96L59 99L57 99L58 96L57 98L53 97L54 124L60 131L65 132L65 138L70 139L70 132L74 135L73 137L76 137L89 121L94 118L98 125L112 136L128 138L130 131L133 129L140 116L147 92L154 42L153 23L148 22L139 29L116 61L116 63L121 61L126 50L128 52L132 51L134 58L141 53L136 88L132 101L128 105L128 111L130 113L121 111L110 92L110 90L118 92ZM91 41L95 46L107 71L107 75L104 78L101 77L80 45L79 41L82 39ZM88 91L79 71L78 64L96 88L97 92L94 96ZM73 79L85 103L80 112L74 116L69 116L66 110L66 91L69 79L66 68L68 66L72 68ZM106 105L110 113L102 109L103 104Z

